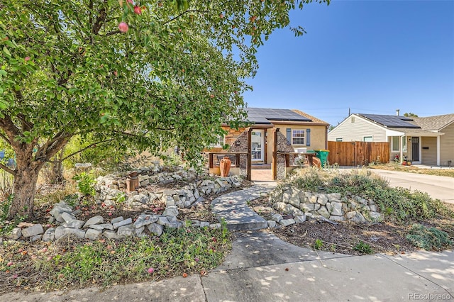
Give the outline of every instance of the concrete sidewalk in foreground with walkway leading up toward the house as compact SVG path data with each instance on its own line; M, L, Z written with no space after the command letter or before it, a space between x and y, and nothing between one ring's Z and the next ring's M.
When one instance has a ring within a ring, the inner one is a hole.
M246 201L271 187L225 194L215 199L214 208L246 213ZM245 222L231 220L231 225L245 228ZM233 236L231 253L207 276L109 289L7 293L0 301L454 301L453 251L350 256L297 247L267 230Z

